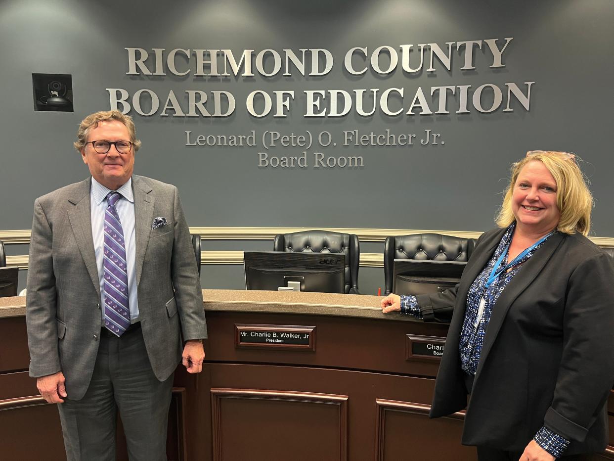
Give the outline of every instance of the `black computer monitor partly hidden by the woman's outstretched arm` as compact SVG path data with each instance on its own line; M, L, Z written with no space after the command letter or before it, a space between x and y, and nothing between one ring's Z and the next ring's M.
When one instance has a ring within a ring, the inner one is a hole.
M443 292L461 281L464 261L395 259L392 293L430 294Z

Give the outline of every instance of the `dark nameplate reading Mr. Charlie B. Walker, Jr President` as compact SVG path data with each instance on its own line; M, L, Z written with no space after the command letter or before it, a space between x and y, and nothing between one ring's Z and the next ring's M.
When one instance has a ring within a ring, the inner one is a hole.
M255 349L316 350L316 327L235 324L235 346Z

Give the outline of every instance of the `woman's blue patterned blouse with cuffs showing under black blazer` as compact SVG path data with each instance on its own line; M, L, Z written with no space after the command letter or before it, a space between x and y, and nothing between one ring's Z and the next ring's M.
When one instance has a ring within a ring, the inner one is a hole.
M503 251L507 251L511 242L511 237L514 234L514 229L515 224L511 224L505 231L505 234L503 234L501 238L501 242L499 242L499 246L497 246L497 249L492 254L486 266L484 266L484 269L480 272L480 275L473 280L467 293L465 320L463 321L461 341L459 342L459 354L461 355L461 368L471 375L475 375L476 369L478 368L482 346L484 345L486 328L488 328L488 323L491 320L492 306L497 302L500 294L507 284L510 283L511 279L522 269L523 263L526 262L543 243L535 246L535 248L521 258L515 266L511 267L508 272L502 272L502 274L495 278L491 285L486 288L486 281L489 275L491 275L493 267L497 264ZM506 264L507 254L505 254L499 267L505 266ZM497 267L497 269L499 269L499 267ZM476 328L475 323L478 318L478 306L480 305L481 297L484 297L485 301L484 312ZM415 296L401 296L401 312L422 318L422 313L420 312L418 301ZM545 426L537 431L534 440L540 447L554 457L561 457L570 442Z

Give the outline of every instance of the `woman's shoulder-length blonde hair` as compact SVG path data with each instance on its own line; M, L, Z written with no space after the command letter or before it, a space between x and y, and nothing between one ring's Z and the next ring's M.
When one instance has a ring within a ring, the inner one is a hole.
M511 165L510 184L505 189L503 203L495 219L497 226L507 227L516 220L511 208L514 184L524 165L535 160L542 162L556 181L556 205L561 213L556 230L564 234L580 232L588 235L593 209L593 195L586 185L588 181L573 157L554 151L532 154Z

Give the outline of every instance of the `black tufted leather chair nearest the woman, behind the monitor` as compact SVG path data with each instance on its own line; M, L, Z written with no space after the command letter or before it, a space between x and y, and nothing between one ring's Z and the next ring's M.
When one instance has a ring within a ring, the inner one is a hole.
M413 234L386 237L384 243L384 286L392 293L395 259L421 261L468 261L475 248L475 238L441 234Z

